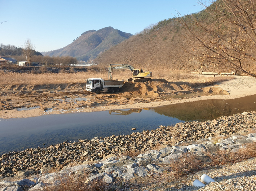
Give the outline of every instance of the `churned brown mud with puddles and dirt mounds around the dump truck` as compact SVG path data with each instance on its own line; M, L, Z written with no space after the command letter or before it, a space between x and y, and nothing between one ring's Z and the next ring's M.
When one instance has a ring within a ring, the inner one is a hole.
M153 103L208 95L228 95L218 87L194 88L185 82L164 79L125 82L119 93L89 93L85 83L3 85L0 87L0 118L32 117L54 113L90 112L135 103ZM38 107L32 110L27 108ZM109 106L109 107L108 107ZM25 110L17 111L19 108Z

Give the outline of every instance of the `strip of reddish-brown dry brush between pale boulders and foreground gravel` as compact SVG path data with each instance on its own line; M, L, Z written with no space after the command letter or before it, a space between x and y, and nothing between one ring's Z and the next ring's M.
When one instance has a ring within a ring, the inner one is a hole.
M48 186L47 191L121 191L139 188L151 189L155 187L157 182L174 182L188 174L201 170L210 169L212 167L221 166L228 163L237 163L245 159L256 157L256 144L247 144L246 148L240 149L237 153L219 151L216 154L206 153L212 159L211 163L205 163L197 159L196 155L184 153L184 155L176 161L172 161L168 165L168 170L164 171L161 176L155 176L154 179L145 177L127 182L117 180L113 184L106 184L102 180L96 180L90 183L84 183L87 175L67 176L59 180L61 184L57 187ZM135 154L135 153L133 153ZM138 154L138 153L136 153ZM135 155L134 155L135 156Z

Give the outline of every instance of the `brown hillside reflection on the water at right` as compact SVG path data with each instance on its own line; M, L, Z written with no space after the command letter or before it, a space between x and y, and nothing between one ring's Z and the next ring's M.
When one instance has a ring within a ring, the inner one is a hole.
M209 99L153 108L156 113L182 121L206 121L256 110L256 95L236 99Z

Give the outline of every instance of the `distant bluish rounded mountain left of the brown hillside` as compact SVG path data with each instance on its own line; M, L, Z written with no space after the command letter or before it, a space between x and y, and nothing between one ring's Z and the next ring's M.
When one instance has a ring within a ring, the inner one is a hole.
M132 34L119 31L113 27L105 27L98 31L90 30L81 34L69 45L58 50L43 52L43 55L73 56L79 60L89 61L131 36Z

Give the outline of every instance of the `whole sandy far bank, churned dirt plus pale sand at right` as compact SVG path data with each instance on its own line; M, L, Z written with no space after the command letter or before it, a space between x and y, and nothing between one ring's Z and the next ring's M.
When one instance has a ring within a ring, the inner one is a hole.
M204 99L233 99L256 94L256 79L235 76L209 86L153 79L125 82L121 92L90 93L85 83L1 85L0 118L21 118L69 112L158 107Z

